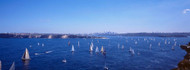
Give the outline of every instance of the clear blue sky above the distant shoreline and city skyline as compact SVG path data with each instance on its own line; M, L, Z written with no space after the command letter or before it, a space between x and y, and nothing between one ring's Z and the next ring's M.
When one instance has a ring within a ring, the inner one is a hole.
M0 32L189 32L190 0L0 0Z

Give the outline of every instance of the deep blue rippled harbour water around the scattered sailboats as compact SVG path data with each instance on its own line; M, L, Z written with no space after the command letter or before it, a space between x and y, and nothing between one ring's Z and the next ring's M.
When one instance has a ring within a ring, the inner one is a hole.
M0 60L2 69L8 70L15 62L16 70L170 70L177 67L186 52L179 45L187 44L190 38L175 37L123 37L108 36L109 39L4 39L0 38ZM145 40L144 40L145 39ZM167 40L167 44L165 44ZM176 40L175 50L172 50ZM68 41L75 46L71 52ZM80 46L78 46L78 41ZM98 43L99 41L99 43ZM137 41L137 44L135 44ZM170 44L168 42L170 41ZM38 45L37 43L40 43ZM89 53L90 43L106 49L106 58L101 53ZM158 43L160 42L160 46ZM41 44L44 46L41 46ZM118 47L120 44L120 47ZM151 49L149 45L152 44ZM30 47L31 45L31 47ZM124 45L124 49L121 48ZM129 48L135 50L131 55ZM28 48L31 60L23 62L21 57ZM51 51L50 53L45 53ZM35 55L38 54L38 55ZM62 60L66 59L67 63Z

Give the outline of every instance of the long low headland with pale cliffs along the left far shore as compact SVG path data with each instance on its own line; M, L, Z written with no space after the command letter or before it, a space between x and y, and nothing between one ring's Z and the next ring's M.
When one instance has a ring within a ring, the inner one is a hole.
M42 34L42 33L0 33L0 38L104 38L73 34Z

